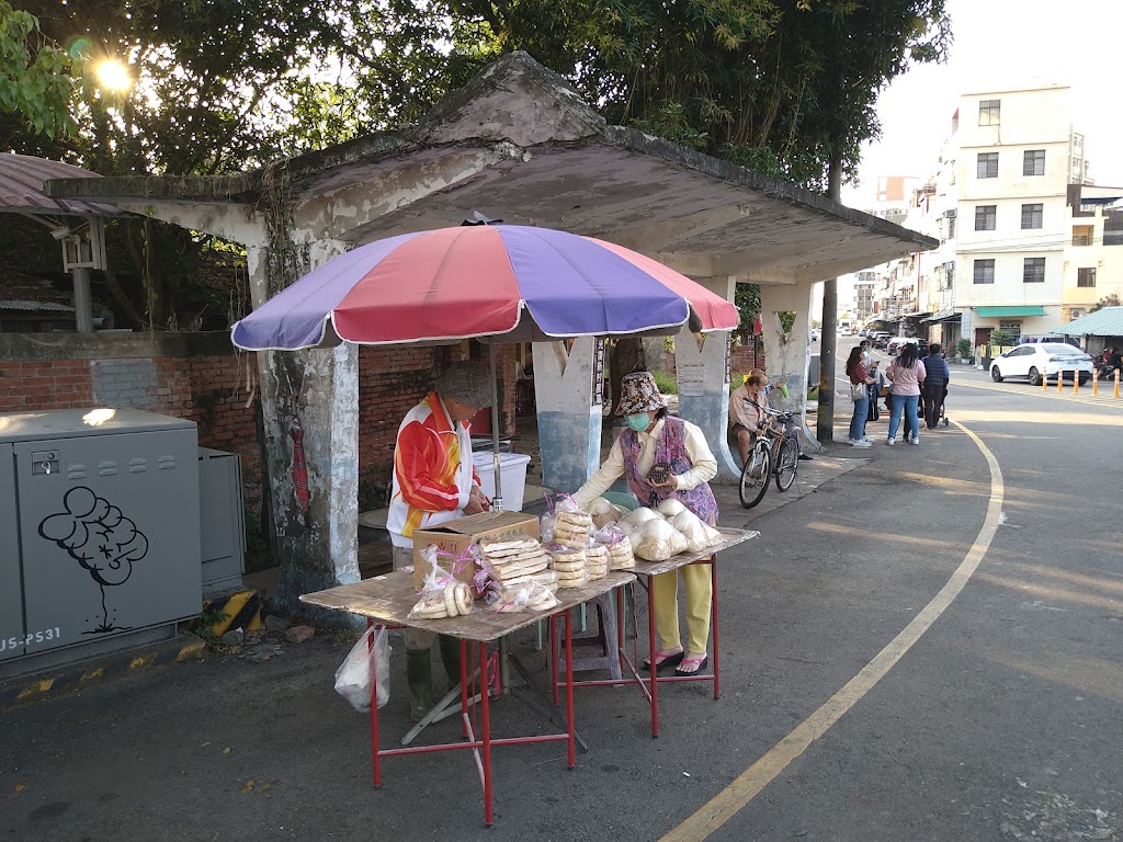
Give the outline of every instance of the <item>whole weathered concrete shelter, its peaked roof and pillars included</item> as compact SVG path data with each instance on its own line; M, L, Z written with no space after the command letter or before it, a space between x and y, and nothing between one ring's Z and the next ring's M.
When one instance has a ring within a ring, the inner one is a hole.
M606 126L559 75L524 53L490 65L423 120L249 173L49 182L52 196L113 204L241 242L253 303L348 248L458 225L473 211L558 228L647 254L732 300L761 285L768 368L804 410L812 286L938 244L818 193L620 126ZM679 337L695 379L681 414L706 432L723 472L728 336ZM596 467L591 406L596 342L533 348L544 483L579 485ZM351 346L258 355L277 530L280 596L358 578L358 354ZM293 390L292 384L302 383ZM294 394L299 392L299 396ZM286 432L300 401L313 505L292 505ZM305 421L305 423L308 423ZM311 425L311 423L308 423Z

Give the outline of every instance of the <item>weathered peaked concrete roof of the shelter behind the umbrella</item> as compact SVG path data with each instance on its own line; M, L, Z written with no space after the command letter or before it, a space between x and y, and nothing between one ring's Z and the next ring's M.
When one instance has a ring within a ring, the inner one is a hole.
M691 275L820 281L938 242L633 129L605 126L524 53L485 68L422 121L207 179L47 184L53 196L256 208L282 181L314 237L366 242L473 211L609 239Z

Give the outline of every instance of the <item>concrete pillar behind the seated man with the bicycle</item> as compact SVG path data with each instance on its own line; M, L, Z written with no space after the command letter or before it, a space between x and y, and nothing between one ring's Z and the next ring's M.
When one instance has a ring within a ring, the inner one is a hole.
M788 397L769 395L777 409L800 417L804 449L816 452L819 443L807 428L807 367L811 363L811 292L813 284L768 284L760 287L760 318L764 322L765 359L768 382L787 386ZM785 333L779 313L795 311L791 333ZM833 382L833 377L830 378Z

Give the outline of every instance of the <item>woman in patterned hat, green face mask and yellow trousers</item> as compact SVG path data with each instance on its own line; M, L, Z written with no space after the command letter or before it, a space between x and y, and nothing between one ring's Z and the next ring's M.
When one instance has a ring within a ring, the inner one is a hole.
M617 413L628 429L620 433L609 458L574 494L582 507L606 492L621 476L642 505L655 507L675 497L711 527L718 523L718 502L709 481L718 475L718 460L705 436L690 421L667 414L667 403L649 372L636 372L621 382ZM710 565L679 567L686 591L686 651L678 633L678 577L675 571L651 579L659 650L655 662L678 675L694 675L709 663L710 605L713 591ZM648 667L650 668L650 667Z

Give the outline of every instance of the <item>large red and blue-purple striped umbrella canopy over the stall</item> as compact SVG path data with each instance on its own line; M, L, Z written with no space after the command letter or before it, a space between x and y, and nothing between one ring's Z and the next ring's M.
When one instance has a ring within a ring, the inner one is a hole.
M731 330L737 308L641 254L527 226L376 240L326 263L234 326L247 350Z

